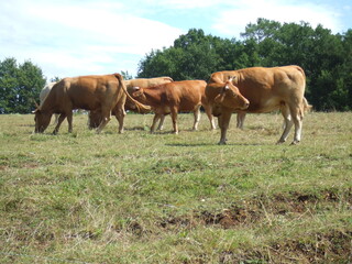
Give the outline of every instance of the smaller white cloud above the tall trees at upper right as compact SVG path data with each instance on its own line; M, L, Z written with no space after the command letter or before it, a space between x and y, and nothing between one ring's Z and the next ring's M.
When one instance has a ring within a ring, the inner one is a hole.
M333 9L311 3L290 3L278 0L237 1L231 8L222 11L212 28L228 36L239 36L245 25L255 23L258 18L278 22L309 22L314 28L322 24L332 32L339 32L339 14Z

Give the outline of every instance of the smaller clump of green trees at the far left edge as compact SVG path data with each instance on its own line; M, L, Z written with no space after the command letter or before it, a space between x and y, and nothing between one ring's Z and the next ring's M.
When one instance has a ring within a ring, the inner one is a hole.
M0 113L31 112L45 81L42 69L31 62L0 62Z

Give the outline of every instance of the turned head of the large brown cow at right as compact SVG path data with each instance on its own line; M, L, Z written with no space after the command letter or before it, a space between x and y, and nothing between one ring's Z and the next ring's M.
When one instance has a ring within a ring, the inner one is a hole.
M215 102L235 110L245 110L250 106L250 101L244 98L239 88L232 84L232 78L223 84L220 94L215 98Z

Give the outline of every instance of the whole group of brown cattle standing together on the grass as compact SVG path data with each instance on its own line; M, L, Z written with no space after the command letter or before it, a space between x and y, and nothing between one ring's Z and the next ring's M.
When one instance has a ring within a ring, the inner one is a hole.
M238 128L243 128L246 113L280 110L285 129L278 140L283 143L295 125L293 144L301 139L304 113L309 110L306 98L306 76L299 66L252 67L213 73L205 80L174 81L170 77L124 80L120 74L64 78L46 86L41 92L41 105L34 111L35 132L42 133L56 116L54 134L67 118L73 131L73 110L89 111L89 127L99 133L116 116L119 133L123 132L125 110L155 113L151 132L163 129L164 118L170 113L174 133L178 133L177 113L194 112L194 130L204 107L210 128L216 129L218 117L221 129L219 144L226 144L231 114L238 113Z

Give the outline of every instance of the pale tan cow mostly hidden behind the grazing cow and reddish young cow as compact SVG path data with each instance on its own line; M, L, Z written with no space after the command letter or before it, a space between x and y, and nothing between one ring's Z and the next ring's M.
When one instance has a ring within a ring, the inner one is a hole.
M146 88L151 86L157 86L157 85L163 85L167 82L174 81L170 77L163 76L163 77L155 77L155 78L138 78L138 79L130 79L130 80L124 80L125 87L128 92L131 95L133 91L133 87L141 87L141 88ZM124 105L125 110L131 110L134 112L140 112L140 113L147 113L148 110L144 109L138 109L135 107L135 103L128 97L125 100ZM118 109L112 110L112 116L116 116L118 119ZM163 116L158 125L158 129L163 129L164 124L164 119L165 117ZM88 116L88 127L89 129L96 129L101 122L101 113L99 111L90 111Z

